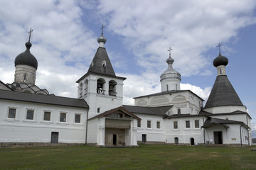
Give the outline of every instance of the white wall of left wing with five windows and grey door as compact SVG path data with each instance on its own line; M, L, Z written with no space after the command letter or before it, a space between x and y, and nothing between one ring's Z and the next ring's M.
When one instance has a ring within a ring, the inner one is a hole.
M9 108L16 108L16 117L8 118ZM33 110L33 120L26 120L26 111ZM43 120L50 111L50 121ZM60 122L66 113L66 122ZM58 142L85 143L86 108L45 105L19 101L0 102L0 142L50 142L51 132L59 132ZM80 114L80 123L75 123Z

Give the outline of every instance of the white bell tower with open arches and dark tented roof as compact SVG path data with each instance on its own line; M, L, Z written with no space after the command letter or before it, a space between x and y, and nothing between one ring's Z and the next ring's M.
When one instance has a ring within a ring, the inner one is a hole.
M84 98L90 107L89 118L112 108L122 106L124 77L117 77L104 47L107 39L97 38L99 47L87 73L78 81L78 98Z

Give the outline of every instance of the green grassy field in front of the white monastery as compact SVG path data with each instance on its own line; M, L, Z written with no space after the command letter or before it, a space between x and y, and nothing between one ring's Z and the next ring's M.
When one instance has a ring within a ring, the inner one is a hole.
M255 147L1 148L0 169L256 169Z

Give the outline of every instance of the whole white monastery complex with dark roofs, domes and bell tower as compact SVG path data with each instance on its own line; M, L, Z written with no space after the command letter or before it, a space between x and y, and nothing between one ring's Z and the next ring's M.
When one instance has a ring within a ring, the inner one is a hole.
M31 33L30 33L31 34ZM251 117L225 74L228 59L213 61L217 77L203 107L203 99L181 90L181 74L168 67L161 74L161 92L134 97L122 104L125 77L117 77L104 45L100 44L85 75L78 81L78 98L49 94L36 86L38 62L26 51L15 59L12 84L0 81L0 144L70 143L97 146L251 145Z

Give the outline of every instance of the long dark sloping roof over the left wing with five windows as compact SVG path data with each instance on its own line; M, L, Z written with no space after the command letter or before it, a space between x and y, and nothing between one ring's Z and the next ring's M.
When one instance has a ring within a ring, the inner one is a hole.
M70 106L78 108L89 108L86 101L78 98L67 98L60 96L49 96L42 94L28 94L17 91L0 90L0 99L12 101L25 101L31 103L43 103L58 106Z

